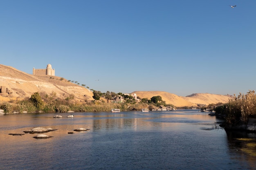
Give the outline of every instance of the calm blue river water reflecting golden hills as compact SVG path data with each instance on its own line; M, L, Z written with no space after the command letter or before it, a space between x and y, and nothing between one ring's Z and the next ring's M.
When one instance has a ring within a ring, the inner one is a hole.
M0 115L0 170L256 169L255 134L227 133L198 110L54 115ZM48 139L8 135L34 127L58 130Z

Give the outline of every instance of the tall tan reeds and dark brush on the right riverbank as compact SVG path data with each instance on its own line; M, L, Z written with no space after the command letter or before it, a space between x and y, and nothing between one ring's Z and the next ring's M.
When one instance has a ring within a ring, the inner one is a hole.
M227 104L215 108L217 114L225 117L226 123L232 126L247 124L249 118L256 118L256 94L255 91L247 92L245 95L239 93Z

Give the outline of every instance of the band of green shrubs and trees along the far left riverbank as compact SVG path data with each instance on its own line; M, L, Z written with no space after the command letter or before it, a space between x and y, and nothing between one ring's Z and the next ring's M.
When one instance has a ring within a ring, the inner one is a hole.
M138 102L132 95L124 95L123 93L117 94L110 91L101 93L100 91L93 90L93 98L94 101L88 102L85 96L84 101L77 102L74 94L57 97L55 92L49 94L46 92L36 92L33 93L29 99L24 99L16 103L0 103L0 108L4 110L4 113L13 113L14 111L19 113L24 111L27 113L63 113L69 110L75 112L92 112L110 111L112 108L119 108L122 111L141 110L142 108L156 110L163 106L171 106L175 108L173 105L165 104L160 96L152 97L151 99L141 99L140 102ZM115 99L119 99L118 102L115 102ZM108 103L106 100L111 101Z

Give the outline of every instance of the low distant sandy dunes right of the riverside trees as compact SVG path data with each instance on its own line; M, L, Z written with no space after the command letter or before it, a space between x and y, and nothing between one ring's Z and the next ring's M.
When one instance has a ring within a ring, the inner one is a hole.
M176 107L183 107L183 106L197 106L200 105L209 105L209 104L217 104L219 102L225 103L231 99L232 96L230 95L214 95L209 93L195 93L186 97L181 97L172 93L167 93L164 91L135 91L138 97L148 98L150 99L153 96L161 96L162 100L166 102L166 104L173 104Z

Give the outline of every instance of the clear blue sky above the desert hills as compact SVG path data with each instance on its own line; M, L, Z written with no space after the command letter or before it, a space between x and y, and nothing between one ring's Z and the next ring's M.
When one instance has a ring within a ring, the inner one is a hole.
M56 76L101 92L238 95L256 90L255 7L256 0L0 0L0 63L30 74L52 64Z

